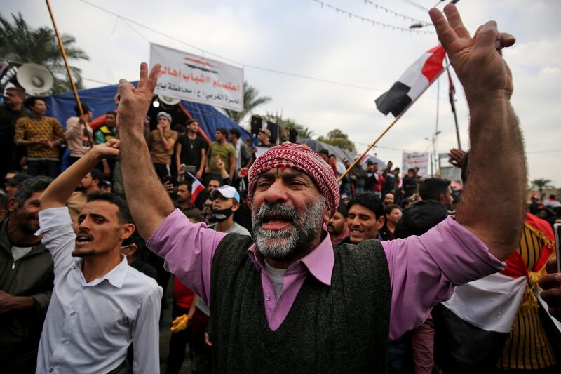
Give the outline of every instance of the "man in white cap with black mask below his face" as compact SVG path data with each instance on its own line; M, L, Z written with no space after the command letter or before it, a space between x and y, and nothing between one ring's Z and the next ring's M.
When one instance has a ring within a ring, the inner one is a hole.
M248 229L234 222L234 212L240 208L240 194L231 186L222 186L210 192L212 199L212 214L210 217L216 221L214 229L219 232L236 232L251 236Z

